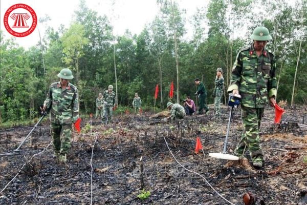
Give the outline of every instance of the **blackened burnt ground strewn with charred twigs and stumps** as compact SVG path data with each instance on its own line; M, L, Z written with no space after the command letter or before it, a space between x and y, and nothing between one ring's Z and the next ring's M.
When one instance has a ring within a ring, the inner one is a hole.
M96 136L93 204L244 204L242 196L246 192L263 199L261 204L307 203L305 108L287 109L279 126L271 120L273 109L266 109L261 124L266 163L261 170L208 156L210 152L223 151L229 108L223 108L224 115L219 120L210 112L167 124L149 119L148 113L118 115L112 125L102 125L97 120L90 126L91 120L83 119L81 134L73 133L67 165L53 158L52 145L26 163L50 144L47 121L33 132L19 155L1 156L1 190L26 165L0 194L0 204L91 204L91 156ZM30 130L31 127L2 130L1 153L12 152ZM239 110L235 110L228 153L233 152L242 131ZM205 155L194 153L196 136L201 138ZM202 177L183 169L163 137L186 169L205 177L231 203L218 196ZM151 193L144 200L137 198L142 187Z

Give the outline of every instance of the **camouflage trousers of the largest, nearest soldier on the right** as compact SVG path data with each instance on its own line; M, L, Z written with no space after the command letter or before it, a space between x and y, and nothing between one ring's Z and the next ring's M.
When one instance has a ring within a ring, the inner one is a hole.
M264 108L241 107L244 131L239 141L235 153L244 155L244 151L249 150L253 162L264 161L264 155L260 146L259 127Z

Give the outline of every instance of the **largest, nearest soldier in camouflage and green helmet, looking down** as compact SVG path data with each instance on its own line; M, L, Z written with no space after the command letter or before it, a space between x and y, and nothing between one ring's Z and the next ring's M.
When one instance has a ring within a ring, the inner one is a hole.
M276 65L273 53L265 48L272 39L269 30L257 27L252 35L253 44L239 51L232 68L227 92L242 96L242 119L244 131L235 152L243 155L249 150L253 166L261 168L264 162L260 147L259 126L264 107L276 104Z

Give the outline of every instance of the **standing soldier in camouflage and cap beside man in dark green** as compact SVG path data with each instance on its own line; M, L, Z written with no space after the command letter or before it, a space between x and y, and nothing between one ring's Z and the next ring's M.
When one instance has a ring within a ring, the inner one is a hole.
M223 96L223 88L224 88L223 69L217 68L215 76L215 87L212 95L213 97L215 97L214 110L216 117L221 117L221 99Z

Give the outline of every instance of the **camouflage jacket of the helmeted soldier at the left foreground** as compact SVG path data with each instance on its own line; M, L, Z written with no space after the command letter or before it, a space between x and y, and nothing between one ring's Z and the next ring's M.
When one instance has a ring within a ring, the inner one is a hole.
M71 124L79 118L78 91L71 83L65 89L60 82L51 84L43 105L50 110L53 123Z

